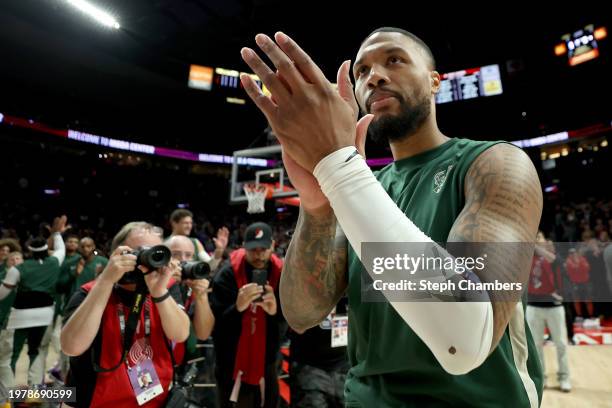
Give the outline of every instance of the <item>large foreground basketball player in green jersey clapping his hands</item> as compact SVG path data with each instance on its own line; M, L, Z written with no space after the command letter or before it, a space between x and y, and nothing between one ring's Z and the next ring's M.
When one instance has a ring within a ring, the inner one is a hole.
M285 34L255 41L276 71L249 48L241 54L272 97L247 75L241 81L277 135L301 199L282 307L301 331L348 292L347 406L537 407L541 367L522 302L360 298L363 242L487 243L489 263L526 287L532 253L502 259L493 245L536 236L542 194L531 160L510 144L438 129L440 75L427 45L409 32L381 28L363 41L354 94L350 61L336 91ZM387 140L394 158L376 175L362 157L366 134ZM476 279L489 274L484 268Z

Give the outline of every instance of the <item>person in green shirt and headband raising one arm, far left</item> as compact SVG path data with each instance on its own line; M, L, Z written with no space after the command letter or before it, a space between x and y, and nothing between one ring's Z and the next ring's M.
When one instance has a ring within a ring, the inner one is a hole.
M9 331L14 329L11 366L14 372L21 349L27 340L30 358L29 385L41 384L44 381L45 361L39 351L43 335L53 321L57 279L65 256L64 240L60 234L65 230L66 216L56 218L50 229L55 249L53 255L49 256L44 238L33 239L28 246L32 259L8 269L0 287L0 299L17 289L7 328Z

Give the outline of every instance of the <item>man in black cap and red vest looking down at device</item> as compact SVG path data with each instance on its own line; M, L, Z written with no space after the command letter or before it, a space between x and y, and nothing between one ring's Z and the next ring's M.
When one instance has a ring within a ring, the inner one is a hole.
M217 272L211 305L219 405L276 407L276 361L284 318L278 299L282 260L272 253L272 229L250 225L244 248Z

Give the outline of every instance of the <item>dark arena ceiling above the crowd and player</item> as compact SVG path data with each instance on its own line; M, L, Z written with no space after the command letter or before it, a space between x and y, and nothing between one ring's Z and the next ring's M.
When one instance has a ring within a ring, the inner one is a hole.
M240 48L254 46L257 32L283 30L333 79L365 35L391 25L430 44L441 71L502 67L504 95L440 106L451 136L520 139L610 120L611 39L600 58L573 68L553 53L562 34L606 25L595 6L534 13L517 2L94 2L117 16L120 30L97 25L65 0L0 3L0 112L226 153L257 143L266 123L250 102L232 105L220 93L189 89L190 64L247 70Z

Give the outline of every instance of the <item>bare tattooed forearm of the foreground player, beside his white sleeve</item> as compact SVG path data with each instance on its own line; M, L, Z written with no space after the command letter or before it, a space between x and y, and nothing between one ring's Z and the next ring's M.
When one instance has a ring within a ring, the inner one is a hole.
M280 281L283 314L297 332L320 323L346 290L347 243L339 228L332 211L314 216L300 208Z

